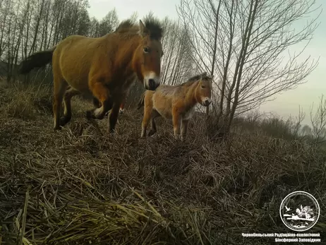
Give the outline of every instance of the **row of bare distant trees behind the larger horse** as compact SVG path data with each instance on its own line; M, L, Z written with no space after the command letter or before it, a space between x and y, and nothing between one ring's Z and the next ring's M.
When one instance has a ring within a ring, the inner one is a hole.
M0 74L8 82L16 80L19 62L30 54L48 49L69 35L102 37L113 32L120 21L115 9L102 20L90 18L87 0L1 0L0 1ZM150 13L152 14L152 13ZM137 13L130 17L138 20ZM164 18L163 83L181 83L193 71L186 28Z

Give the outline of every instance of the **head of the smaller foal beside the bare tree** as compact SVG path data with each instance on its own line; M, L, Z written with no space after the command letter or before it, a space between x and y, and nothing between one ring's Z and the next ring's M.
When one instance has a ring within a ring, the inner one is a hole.
M195 90L197 101L204 107L208 107L212 103L212 80L213 76L207 76L207 73L203 73Z

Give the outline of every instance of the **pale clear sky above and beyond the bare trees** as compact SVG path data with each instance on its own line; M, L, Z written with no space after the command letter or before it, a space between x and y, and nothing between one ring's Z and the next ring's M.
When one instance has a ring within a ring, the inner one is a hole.
M155 4L154 4L155 3ZM111 9L116 8L119 20L126 19L135 11L138 17L143 18L148 12L152 11L158 18L168 16L171 19L177 19L176 5L179 0L90 0L89 13L97 19L103 18ZM319 97L324 94L326 97L326 1L316 0L316 6L322 6L323 9L319 22L320 25L314 32L313 40L302 55L302 59L311 56L312 59L318 59L318 67L313 73L310 73L306 79L307 83L299 85L295 90L289 90L282 94L275 95L276 99L267 102L260 107L261 112L273 112L286 119L290 114L298 115L298 106L306 112L304 124L310 125L310 106L314 102L314 108L319 101ZM298 46L301 48L302 45Z

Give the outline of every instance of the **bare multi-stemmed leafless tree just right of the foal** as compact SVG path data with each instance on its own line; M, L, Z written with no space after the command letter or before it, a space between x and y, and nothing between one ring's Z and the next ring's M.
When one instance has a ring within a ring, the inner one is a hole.
M193 34L193 59L219 78L217 116L223 116L226 131L235 114L306 82L318 61L298 61L305 47L286 52L310 40L316 11L314 0L181 0L178 12ZM294 28L308 16L314 17Z

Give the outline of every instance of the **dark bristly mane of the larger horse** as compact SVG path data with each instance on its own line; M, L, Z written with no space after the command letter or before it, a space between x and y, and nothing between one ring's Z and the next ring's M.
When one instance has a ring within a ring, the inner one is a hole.
M162 38L164 30L160 21L153 16L146 16L143 21L145 28L148 30L148 34L152 40L159 40ZM128 19L123 20L114 32L135 32L139 30L139 25L135 24L135 21Z

